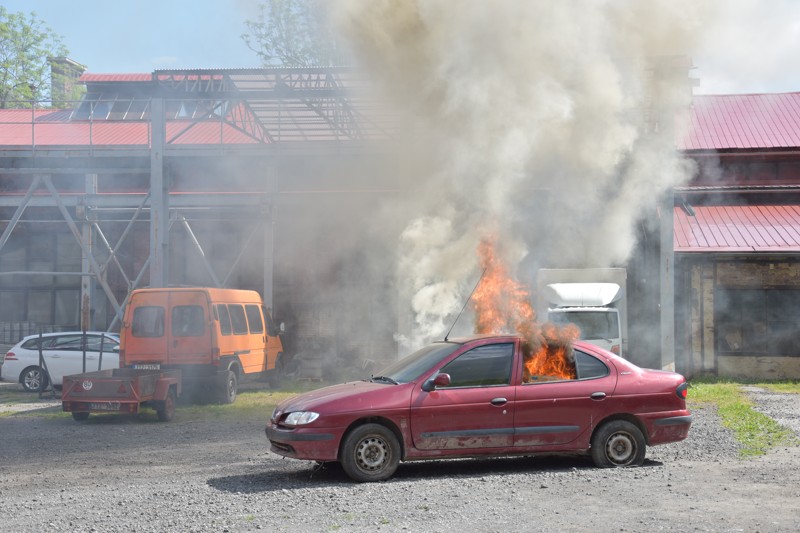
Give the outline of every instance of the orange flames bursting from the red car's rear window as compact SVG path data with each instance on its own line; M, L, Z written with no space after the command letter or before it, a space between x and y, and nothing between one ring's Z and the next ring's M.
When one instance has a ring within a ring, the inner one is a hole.
M509 275L495 252L493 239L481 241L478 256L485 273L472 296L475 331L516 333L524 339L526 383L575 379L572 342L580 336L577 326L558 327L549 322L544 325L536 322L528 289Z

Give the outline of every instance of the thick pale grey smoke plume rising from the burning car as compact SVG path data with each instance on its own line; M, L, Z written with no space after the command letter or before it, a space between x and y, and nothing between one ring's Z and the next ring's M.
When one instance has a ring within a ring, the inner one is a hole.
M483 237L527 283L541 267L623 265L637 221L691 174L675 127L702 4L345 5L342 27L412 139L401 146L412 161L403 188L415 193L397 272L409 344L446 330L479 274Z

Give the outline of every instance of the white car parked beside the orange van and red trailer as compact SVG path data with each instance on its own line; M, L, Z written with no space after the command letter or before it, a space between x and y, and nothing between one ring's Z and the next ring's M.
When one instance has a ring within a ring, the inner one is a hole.
M41 345L43 365L39 361L39 335L29 335L15 344L0 366L0 379L17 381L26 391L37 391L40 386L44 389L48 384L61 386L64 376L84 371L84 353L86 372L119 368L119 335L116 333L43 333Z

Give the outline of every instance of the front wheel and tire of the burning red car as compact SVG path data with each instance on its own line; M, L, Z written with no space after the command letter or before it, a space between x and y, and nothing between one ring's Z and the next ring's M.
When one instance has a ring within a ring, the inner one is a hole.
M400 443L386 426L364 424L347 434L339 461L356 481L383 481L392 477L400 464Z

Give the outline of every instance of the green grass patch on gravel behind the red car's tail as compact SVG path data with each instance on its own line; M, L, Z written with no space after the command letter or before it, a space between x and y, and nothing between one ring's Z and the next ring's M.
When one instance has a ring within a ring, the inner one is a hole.
M752 383L757 387L768 388L767 383ZM795 391L797 386L795 384ZM795 434L770 417L753 408L753 402L742 390L742 383L724 379L703 379L693 381L689 390L690 407L703 404L717 406L722 425L733 431L736 440L742 444L742 457L755 457L765 454L770 448L783 445L797 445Z

